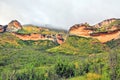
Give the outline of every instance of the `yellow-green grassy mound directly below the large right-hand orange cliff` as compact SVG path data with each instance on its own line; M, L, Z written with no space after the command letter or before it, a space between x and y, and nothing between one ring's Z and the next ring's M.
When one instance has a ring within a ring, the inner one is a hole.
M104 45L92 38L69 36L62 45L49 49L49 52L65 54L102 53Z

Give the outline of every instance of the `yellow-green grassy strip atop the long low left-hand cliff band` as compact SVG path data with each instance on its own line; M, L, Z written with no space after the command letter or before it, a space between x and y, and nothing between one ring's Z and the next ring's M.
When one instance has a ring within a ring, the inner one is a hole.
M65 34L67 31L65 30L57 30L57 29L47 29L39 26L34 26L34 25L26 25L23 26L21 30L18 30L17 33L19 34L31 34L31 33L39 33L39 34Z

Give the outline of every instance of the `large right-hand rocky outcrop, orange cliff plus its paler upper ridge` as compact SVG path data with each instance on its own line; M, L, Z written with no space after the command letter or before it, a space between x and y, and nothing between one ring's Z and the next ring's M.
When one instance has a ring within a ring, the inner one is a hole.
M70 35L77 35L83 37L92 37L98 39L102 43L106 43L113 39L120 38L120 24L108 26L107 31L97 32L95 29L100 28L103 25L109 25L110 23L119 19L108 19L99 23L96 26L86 26L85 24L77 24L70 28Z

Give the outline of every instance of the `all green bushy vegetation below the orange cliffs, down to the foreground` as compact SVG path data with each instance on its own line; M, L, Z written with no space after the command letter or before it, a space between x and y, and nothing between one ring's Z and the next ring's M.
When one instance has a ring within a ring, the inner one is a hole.
M3 33L0 43L0 80L120 78L119 40L101 44L96 39L69 36L58 45L49 40L23 41Z

